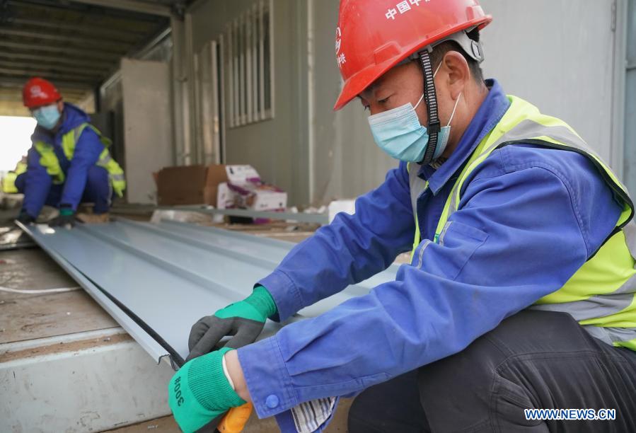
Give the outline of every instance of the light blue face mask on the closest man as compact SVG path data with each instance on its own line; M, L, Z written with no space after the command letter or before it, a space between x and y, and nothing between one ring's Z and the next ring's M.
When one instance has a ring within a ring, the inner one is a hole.
M441 64L439 66L441 67ZM439 71L439 67L433 74L433 78L435 78L437 71ZM417 112L415 112L422 99L424 99L423 94L422 98L415 104L415 107L413 107L412 103L407 103L401 107L393 108L393 110L369 116L371 134L373 134L380 149L389 156L400 161L414 163L424 159L424 154L429 144L429 133L426 127L420 124L420 119L417 117ZM437 134L437 148L435 149L433 161L444 153L446 144L449 143L451 122L460 99L461 93L455 102L449 125L442 127L439 134Z

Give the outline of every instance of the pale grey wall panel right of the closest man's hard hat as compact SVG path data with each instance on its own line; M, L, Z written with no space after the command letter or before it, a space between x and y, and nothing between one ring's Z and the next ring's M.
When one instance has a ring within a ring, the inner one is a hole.
M613 0L482 0L485 75L560 117L611 161Z

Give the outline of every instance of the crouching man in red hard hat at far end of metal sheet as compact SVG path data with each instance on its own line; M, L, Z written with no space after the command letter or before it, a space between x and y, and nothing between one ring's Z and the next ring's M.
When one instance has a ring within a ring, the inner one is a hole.
M113 193L122 197L126 187L122 168L110 157L110 139L85 112L65 103L50 81L30 79L22 96L37 126L27 171L15 180L24 194L18 221L35 221L45 204L59 208L51 226L72 226L80 202L91 202L94 214L106 215Z

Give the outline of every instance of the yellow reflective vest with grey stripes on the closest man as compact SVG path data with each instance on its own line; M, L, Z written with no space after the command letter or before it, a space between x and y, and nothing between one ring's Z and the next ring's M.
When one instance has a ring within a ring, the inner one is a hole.
M511 105L506 114L473 151L453 185L437 224L434 242L444 242L444 234L451 224L449 218L461 202L464 183L470 173L496 149L510 144L536 144L586 156L615 196L622 200L623 212L615 230L599 250L563 287L541 298L532 308L569 313L595 337L615 346L636 350L636 224L632 221L634 207L627 190L606 163L565 122L541 115L536 107L520 98L509 98ZM417 175L419 166L409 165L407 169L417 227L413 257L420 244L417 197L426 189L427 183ZM419 256L423 250L424 245L420 247L418 263L421 263ZM412 265L416 265L415 260L412 260Z

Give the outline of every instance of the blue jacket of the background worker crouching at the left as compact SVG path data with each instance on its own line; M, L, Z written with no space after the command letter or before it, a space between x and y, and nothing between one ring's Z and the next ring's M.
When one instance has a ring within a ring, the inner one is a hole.
M90 122L91 118L70 103L64 103L62 117L62 125L54 134L39 125L36 126L31 142L52 144L65 178L60 204L69 204L75 210L86 187L88 168L97 163L104 145L93 129L85 128L77 140L73 158L69 160L62 150L62 136L79 125ZM53 180L40 163L40 154L35 150L35 146L31 146L28 151L27 165L23 209L32 217L37 217L47 200Z

